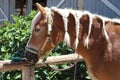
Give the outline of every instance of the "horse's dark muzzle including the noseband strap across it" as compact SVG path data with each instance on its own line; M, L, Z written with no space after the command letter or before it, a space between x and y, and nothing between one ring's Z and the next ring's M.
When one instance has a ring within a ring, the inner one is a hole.
M38 51L29 47L25 47L25 58L31 64L35 64L39 60Z

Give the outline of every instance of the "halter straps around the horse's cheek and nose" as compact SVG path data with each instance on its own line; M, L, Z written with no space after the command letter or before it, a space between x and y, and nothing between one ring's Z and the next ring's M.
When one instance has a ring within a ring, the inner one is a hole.
M46 15L46 17L47 17L47 23L48 23L48 32L47 32L47 38L45 39L42 48L40 49L40 51L37 51L37 50L35 50L35 49L33 49L33 48L30 48L29 46L26 46L26 47L25 47L25 50L27 50L27 51L29 51L30 53L35 54L35 55L38 55L39 52L43 52L43 50L45 49L48 41L51 42L51 46L52 46L52 47L55 47L55 45L53 44L52 39L51 39L51 37L50 37L50 35L51 35L51 30L52 30L51 25L52 25L52 22L53 22L52 16L51 16L51 10L50 10L49 8L45 8L45 9L46 9L46 12L48 13L48 14Z

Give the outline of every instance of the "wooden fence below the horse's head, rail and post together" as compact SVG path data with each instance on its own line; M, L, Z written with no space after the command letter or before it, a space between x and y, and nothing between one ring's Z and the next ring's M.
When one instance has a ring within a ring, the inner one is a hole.
M77 54L69 54L62 56L52 56L48 57L46 63L49 64L64 64L73 62L78 58ZM83 60L79 56L78 60ZM40 59L35 65L30 65L27 62L12 62L11 60L0 61L0 72L10 71L10 70L22 70L22 80L35 80L34 77L34 68L46 66L42 59Z

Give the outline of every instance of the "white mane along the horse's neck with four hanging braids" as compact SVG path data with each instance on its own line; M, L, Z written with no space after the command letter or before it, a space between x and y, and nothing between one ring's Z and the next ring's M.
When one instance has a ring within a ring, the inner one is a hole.
M75 42L74 42L74 45L75 45L75 49L77 48L78 46L78 43L79 43L79 40L78 40L78 36L79 36L79 31L80 31L80 19L82 17L82 15L84 14L88 14L89 16L89 30L88 30L88 35L87 35L87 38L85 39L84 41L84 46L88 48L88 44L89 44L89 37L90 37L90 34L91 34L91 29L92 29L92 23L93 23L93 18L96 16L96 14L91 14L90 12L88 11L78 11L78 10L71 10L71 9L58 9L56 7L52 7L51 10L57 12L59 15L62 16L63 18L63 22L64 22L64 27L65 27L65 37L64 37L64 42L67 43L67 45L70 45L70 36L67 32L67 23L68 23L68 16L69 14L72 14L75 18L75 25L76 25L76 39L75 39ZM105 30L105 21L107 20L110 20L109 18L105 18L105 17L102 17L102 16L99 16L97 15L98 17L100 17L102 20L103 20L103 31L104 31L104 34L105 34L105 37L106 37L106 40L109 41L109 37L108 37L108 34Z

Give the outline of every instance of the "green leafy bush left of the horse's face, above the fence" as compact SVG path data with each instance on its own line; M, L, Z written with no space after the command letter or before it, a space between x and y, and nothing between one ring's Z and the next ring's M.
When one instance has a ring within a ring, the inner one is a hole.
M35 15L32 11L28 16L14 15L14 23L5 22L0 28L0 60L10 59L12 53L24 52L24 46L29 38L31 20Z

